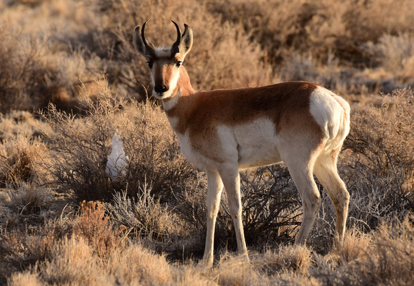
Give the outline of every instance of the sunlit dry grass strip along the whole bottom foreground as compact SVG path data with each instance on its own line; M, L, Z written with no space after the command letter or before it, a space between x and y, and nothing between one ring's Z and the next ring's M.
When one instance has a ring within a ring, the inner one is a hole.
M299 281L305 285L408 285L413 275L411 217L382 224L369 235L348 233L344 245L326 256L306 247L287 246L252 254L250 263L227 253L216 267L206 270L191 260L186 265L171 264L164 256L124 240L122 230L111 231L102 206L83 204L79 215L65 215L73 219L49 224L45 229L54 235L3 233L1 251L8 263L38 261L35 267L10 276L9 285L28 279L34 285L279 285ZM72 231L59 236L64 221L73 226Z

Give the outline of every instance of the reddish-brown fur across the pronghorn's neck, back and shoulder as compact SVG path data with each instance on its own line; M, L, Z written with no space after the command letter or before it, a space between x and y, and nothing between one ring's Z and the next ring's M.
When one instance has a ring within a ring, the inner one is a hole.
M183 72L183 67L181 69L177 88L189 84L185 78L187 73ZM321 127L309 112L309 96L316 88L316 84L308 82L200 92L187 87L182 88L176 106L166 113L169 118L178 118L174 131L179 134L188 132L193 148L214 161L223 159L218 152L217 126L235 126L262 117L274 122L275 134L288 136L289 132L306 130L315 136L315 146L310 148L316 148L316 144L322 142Z

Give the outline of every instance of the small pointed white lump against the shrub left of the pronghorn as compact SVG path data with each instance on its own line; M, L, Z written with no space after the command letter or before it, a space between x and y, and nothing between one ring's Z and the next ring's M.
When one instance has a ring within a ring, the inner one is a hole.
M112 137L112 152L106 163L106 175L108 175L112 181L119 181L121 175L126 175L126 165L128 164L128 161L129 157L125 155L121 136L115 132Z

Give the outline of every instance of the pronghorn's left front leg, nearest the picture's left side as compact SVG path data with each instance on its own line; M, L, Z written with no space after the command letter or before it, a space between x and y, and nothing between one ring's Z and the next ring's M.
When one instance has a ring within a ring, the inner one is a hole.
M207 238L203 257L205 267L213 265L214 227L222 190L223 181L221 181L218 172L207 170Z

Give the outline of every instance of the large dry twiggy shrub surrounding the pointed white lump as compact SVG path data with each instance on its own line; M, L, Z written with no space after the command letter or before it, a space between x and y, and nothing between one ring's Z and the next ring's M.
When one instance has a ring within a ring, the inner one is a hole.
M43 166L57 184L73 190L79 200L109 200L114 190L121 189L135 197L143 182L150 181L157 198L169 199L171 190L179 190L183 181L192 181L196 171L182 157L160 108L151 102L114 98L105 83L95 91L95 101L86 89L83 91L86 116L66 114L54 105L42 114L56 132L51 138L55 152L50 152ZM123 136L129 163L126 175L113 182L105 168L116 130Z

